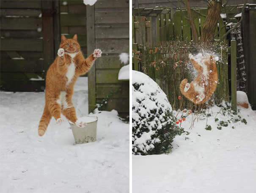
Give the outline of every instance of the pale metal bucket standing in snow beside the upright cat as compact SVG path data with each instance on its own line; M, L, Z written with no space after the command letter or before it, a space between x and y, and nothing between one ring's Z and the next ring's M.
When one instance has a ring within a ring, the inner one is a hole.
M91 117L91 116L85 116L85 117ZM69 122L72 129L72 133L74 135L74 140L76 141L77 144L84 144L84 143L96 141L98 117L94 117L94 118L96 118L96 120L92 122L86 122L87 125L84 128L80 128L77 125L74 125L72 122Z

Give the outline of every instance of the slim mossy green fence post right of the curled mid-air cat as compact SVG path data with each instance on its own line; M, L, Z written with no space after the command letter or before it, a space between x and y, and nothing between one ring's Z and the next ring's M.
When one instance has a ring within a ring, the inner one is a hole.
M231 108L237 110L237 41L231 40Z

